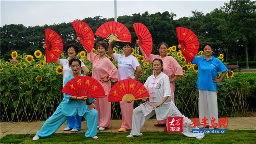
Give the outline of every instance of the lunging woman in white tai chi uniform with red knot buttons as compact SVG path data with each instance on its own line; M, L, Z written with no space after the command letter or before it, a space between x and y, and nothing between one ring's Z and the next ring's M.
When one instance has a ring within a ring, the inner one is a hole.
M144 84L150 94L149 100L133 110L132 128L130 135L127 137L142 136L140 129L143 127L145 121L156 114L158 121L167 119L169 116L183 117L183 134L187 137L203 139L203 133L191 133L191 129L199 128L193 128L193 125L190 126L193 122L181 114L175 104L172 103L169 77L162 72L163 61L161 59L153 60L152 68L155 74L148 77ZM130 103L130 99L127 102ZM188 131L185 129L188 129Z

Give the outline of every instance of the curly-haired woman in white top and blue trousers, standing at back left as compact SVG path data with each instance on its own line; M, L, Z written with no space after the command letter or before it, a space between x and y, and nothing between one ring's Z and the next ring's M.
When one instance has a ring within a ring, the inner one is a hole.
M45 48L47 48L46 44L43 45L43 49L45 49ZM73 73L69 66L69 61L76 57L76 55L79 53L79 48L76 44L71 43L69 45L66 45L65 51L68 54L69 58L67 58L67 59L58 58L56 61L53 61L54 63L63 66L63 86L64 86L64 80L66 79L66 77L68 77L70 74ZM89 69L85 66L83 61L81 61L81 70L84 71L83 72L84 75L86 75L86 76L88 75ZM81 73L81 71L80 71L80 73ZM91 105L90 107L94 108L93 105ZM80 131L81 130L81 116L79 116L77 114L75 116L68 118L66 120L66 125L67 125L67 127L65 129L63 129L64 131L69 131L69 130L71 130L71 132Z

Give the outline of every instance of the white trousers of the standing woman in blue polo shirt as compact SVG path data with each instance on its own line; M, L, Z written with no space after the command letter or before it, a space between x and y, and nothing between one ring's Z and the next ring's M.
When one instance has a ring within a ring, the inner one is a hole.
M218 124L218 103L216 91L206 91L199 89L198 99L198 112L200 123L204 117L207 120L209 126L211 126L211 120L214 118ZM219 125L219 124L218 124Z

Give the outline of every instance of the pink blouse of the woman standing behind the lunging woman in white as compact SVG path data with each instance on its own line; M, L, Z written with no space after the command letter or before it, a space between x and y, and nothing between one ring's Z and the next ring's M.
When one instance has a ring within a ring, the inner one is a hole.
M144 56L144 60L150 63L153 62L154 59L159 58L163 61L163 73L165 73L169 78L173 78L174 75L178 75L179 77L183 76L183 71L179 63L172 56L165 56L161 58L158 55ZM170 83L171 91L175 91L174 83Z

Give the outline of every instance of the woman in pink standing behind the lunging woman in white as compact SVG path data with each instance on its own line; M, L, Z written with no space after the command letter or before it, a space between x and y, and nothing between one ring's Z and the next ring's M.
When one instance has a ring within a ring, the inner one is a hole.
M136 41L137 45L139 45L139 42L140 40ZM140 45L139 47L142 55L144 56L145 61L152 63L153 60L155 60L156 58L159 58L163 61L163 73L169 77L170 86L171 86L171 101L173 101L173 103L175 104L174 81L176 81L177 78L183 76L183 71L179 63L172 56L167 56L168 45L164 42L158 45L157 50L160 53L160 56L152 55L152 54L150 54L150 56L147 56ZM166 120L157 121L157 123L158 124L155 124L155 126L166 126ZM167 131L167 127L165 127L165 130Z

